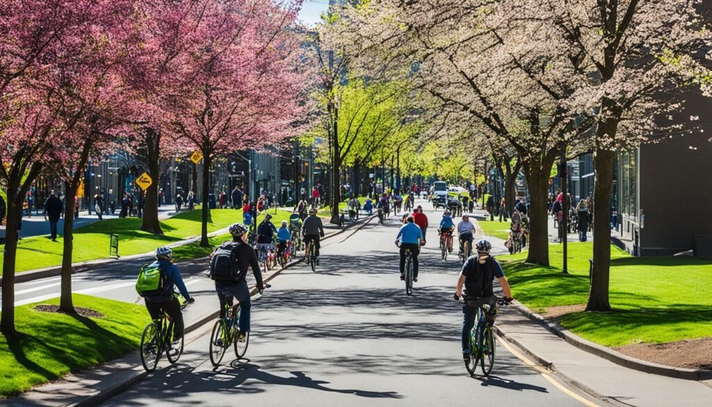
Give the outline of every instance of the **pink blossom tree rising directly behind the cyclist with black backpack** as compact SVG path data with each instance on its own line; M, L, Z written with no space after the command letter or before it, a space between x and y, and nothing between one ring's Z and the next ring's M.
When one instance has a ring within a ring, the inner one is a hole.
M299 5L212 1L199 14L207 16L206 31L189 61L192 75L167 104L166 127L202 153L204 199L216 157L294 135L308 83L300 63L303 38L294 26ZM208 205L202 211L201 245L209 246Z

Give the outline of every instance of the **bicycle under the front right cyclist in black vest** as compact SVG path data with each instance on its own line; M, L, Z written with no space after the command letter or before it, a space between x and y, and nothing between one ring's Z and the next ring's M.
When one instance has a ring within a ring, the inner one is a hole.
M506 299L495 297L496 304L509 304ZM475 375L477 365L479 364L484 376L489 376L494 366L496 342L494 337L494 320L497 317L498 309L490 304L483 304L481 298L458 297L455 294L456 301L463 301L468 304L476 304L477 314L475 315L475 323L469 332L469 349L470 359L465 361L465 369L470 373L470 376ZM474 305L471 305L474 306Z

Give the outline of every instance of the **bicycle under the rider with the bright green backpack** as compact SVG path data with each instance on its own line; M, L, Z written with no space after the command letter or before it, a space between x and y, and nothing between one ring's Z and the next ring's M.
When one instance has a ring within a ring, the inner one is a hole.
M188 304L188 302L182 302L181 311L186 309ZM180 339L177 340L178 344L174 344L173 324L174 321L165 311L161 310L159 319L152 320L143 330L140 354L141 364L146 371L155 371L164 352L171 364L175 364L183 354L184 335L182 333Z

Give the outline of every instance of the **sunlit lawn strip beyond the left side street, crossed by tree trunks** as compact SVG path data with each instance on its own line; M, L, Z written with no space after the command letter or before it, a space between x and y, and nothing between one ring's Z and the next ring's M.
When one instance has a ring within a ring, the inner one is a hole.
M243 222L241 210L216 209L210 212L212 222L208 223L208 232L214 232L235 222ZM277 226L282 219L288 219L290 213L278 210L277 215L274 215L273 210L270 212L273 215L273 222ZM259 220L262 220L262 216L259 216ZM198 236L201 230L201 211L181 212L162 221L163 236L143 232L140 227L140 219L127 217L102 220L76 229L74 231L73 262L108 257L109 239L112 234L119 235L119 254L121 256L150 252L156 247L187 237ZM18 245L16 271L23 272L60 265L62 263L62 242L62 237L59 237L57 242L52 242L46 237L22 239ZM4 245L0 245L0 250L3 248ZM205 250L187 249L184 251L185 254L191 252L198 254ZM0 252L0 261L2 257L3 254Z

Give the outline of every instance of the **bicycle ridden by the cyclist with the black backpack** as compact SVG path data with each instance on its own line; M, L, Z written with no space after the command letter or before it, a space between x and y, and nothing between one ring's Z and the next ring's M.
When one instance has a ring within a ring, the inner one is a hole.
M270 284L265 284L265 288L272 287ZM237 299L235 299L237 301ZM213 366L218 366L225 356L225 351L234 346L235 356L237 359L242 359L247 352L247 346L250 344L250 333L245 332L245 336L239 337L239 314L240 303L236 302L232 308L225 304L223 308L223 316L221 316L213 326L213 331L210 334L210 363Z

